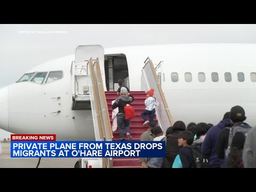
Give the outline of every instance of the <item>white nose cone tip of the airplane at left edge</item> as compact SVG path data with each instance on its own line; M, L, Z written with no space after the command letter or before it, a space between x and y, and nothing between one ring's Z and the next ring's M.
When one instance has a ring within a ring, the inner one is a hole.
M8 86L0 89L0 129L8 131Z

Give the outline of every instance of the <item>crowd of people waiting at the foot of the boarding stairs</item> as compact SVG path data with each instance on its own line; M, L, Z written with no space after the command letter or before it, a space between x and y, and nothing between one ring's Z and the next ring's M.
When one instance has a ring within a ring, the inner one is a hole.
M245 111L234 106L217 125L177 121L165 133L155 122L142 133L141 141L166 142L164 158L140 158L144 168L244 168L256 167L256 127L244 121ZM160 127L161 128L161 127ZM199 166L198 166L199 163Z

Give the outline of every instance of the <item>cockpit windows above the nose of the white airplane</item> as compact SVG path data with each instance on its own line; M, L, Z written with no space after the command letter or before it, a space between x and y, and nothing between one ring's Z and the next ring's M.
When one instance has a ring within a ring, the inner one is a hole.
M42 84L44 83L44 79L46 78L48 72L37 72L37 73L29 73L23 75L18 82L26 82L30 81ZM45 83L51 83L54 81L57 81L58 79L61 79L63 77L62 71L51 71L49 75L47 76Z

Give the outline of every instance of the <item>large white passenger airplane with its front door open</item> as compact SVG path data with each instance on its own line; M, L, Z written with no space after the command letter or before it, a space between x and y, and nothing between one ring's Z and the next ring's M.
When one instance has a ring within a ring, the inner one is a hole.
M240 105L246 122L256 125L256 44L149 45L104 51L100 65L105 91L116 91L115 83L123 77L129 77L131 91L141 91L143 61L150 57L155 64L163 61L157 74L174 122L215 125L231 107ZM74 59L73 54L43 63L3 87L0 128L16 134L57 134L58 140L95 140L87 86L72 80ZM84 73L84 66L79 71ZM77 90L79 86L78 94L87 97L82 106L74 105L74 84Z

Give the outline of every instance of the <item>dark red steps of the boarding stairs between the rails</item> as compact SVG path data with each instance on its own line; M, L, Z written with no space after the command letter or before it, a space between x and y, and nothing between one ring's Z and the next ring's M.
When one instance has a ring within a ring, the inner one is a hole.
M117 99L119 96L116 94L116 91L105 91L106 99L108 103L108 113L110 118L110 123L112 126L112 106L111 101ZM144 91L131 91L131 95L134 97L134 101L131 103L131 105L134 107L135 110L135 118L131 120L130 124L130 134L132 136L132 141L140 141L140 135L147 131L148 125L143 125L144 120L141 117L141 113L145 110L145 99L146 99L146 93ZM157 123L156 115L154 117L154 121ZM125 129L124 129L125 132ZM113 141L120 141L119 137L119 129L117 127L117 130L113 132ZM125 133L125 139L126 133ZM141 167L139 164L139 158L113 158L113 167L114 168L135 168L135 167Z

